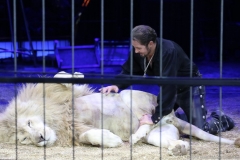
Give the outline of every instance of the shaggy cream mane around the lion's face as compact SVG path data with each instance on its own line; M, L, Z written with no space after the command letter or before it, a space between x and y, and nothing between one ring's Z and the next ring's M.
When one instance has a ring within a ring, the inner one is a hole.
M86 84L22 85L17 96L10 101L6 110L0 113L0 141L9 142L10 137L14 137L16 132L21 132L21 128L18 128L16 123L19 118L40 116L41 120L56 132L55 145L72 145L73 137L79 136L77 131L84 129L72 116L76 116L74 99L93 92L94 90ZM74 142L78 145L77 141Z

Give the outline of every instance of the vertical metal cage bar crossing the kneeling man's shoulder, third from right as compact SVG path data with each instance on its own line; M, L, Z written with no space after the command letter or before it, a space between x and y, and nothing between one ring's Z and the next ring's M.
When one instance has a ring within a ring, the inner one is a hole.
M159 65L159 76L160 76L160 78L162 78L162 68L163 68L163 63L162 63L162 38L163 38L163 0L160 0L160 32L159 32L159 38L160 38L160 56L159 56L159 58L160 58L160 65ZM162 117L162 86L160 86L159 87L159 109L160 109L160 111L159 111L159 113L160 113L160 117ZM161 127L161 123L159 124L160 125L160 148L159 148L159 153L160 153L160 159L162 159L162 143L161 143L161 141L162 141L162 135L161 135L161 133L162 133L162 131L161 131L161 129L162 129L162 127Z

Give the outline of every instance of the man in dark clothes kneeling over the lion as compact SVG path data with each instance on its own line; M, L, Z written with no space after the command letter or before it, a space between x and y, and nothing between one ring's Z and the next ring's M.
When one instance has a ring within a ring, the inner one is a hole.
M139 25L132 30L133 62L132 71L134 75L159 76L160 65L162 65L163 77L190 77L190 60L183 49L171 40L157 38L154 29L146 25ZM160 64L160 47L162 48L162 64ZM122 66L119 76L130 74L130 57ZM201 77L197 66L192 63L192 77ZM101 88L102 93L118 92L125 89L126 85L111 85ZM192 118L192 124L212 134L220 131L230 130L234 127L231 118L222 112L213 112L206 119L207 110L205 107L204 86L192 87L192 97L190 97L190 86L163 85L162 86L162 116L169 114L172 109L181 107L184 111L186 121ZM158 104L161 95L158 95ZM190 98L192 105L190 106ZM190 111L192 109L192 117ZM179 114L177 114L179 115ZM221 116L221 124L219 119ZM181 117L180 117L181 118ZM160 107L156 106L153 115L143 115L140 119L142 124L156 124L160 121Z

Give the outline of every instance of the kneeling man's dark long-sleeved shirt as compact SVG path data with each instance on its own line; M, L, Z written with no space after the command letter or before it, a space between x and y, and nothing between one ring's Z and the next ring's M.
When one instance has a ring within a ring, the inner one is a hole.
M160 64L160 47L162 47L162 63ZM136 54L133 48L133 63L132 71L133 75L143 75L144 57L140 54ZM130 57L122 66L122 72L119 76L130 74ZM183 49L171 40L162 39L162 45L160 45L160 40L156 40L156 49L152 59L152 66L148 67L148 76L160 76L160 66L162 65L162 76L163 77L189 77L190 76L190 60ZM192 63L193 72L197 73L197 66ZM117 85L120 89L125 89L126 85ZM164 85L162 86L162 116L169 114L174 108L177 96L177 86L176 85ZM158 96L159 98L159 96ZM158 99L159 104L159 99ZM157 123L160 118L159 105L156 106L155 113L152 115L153 123Z

